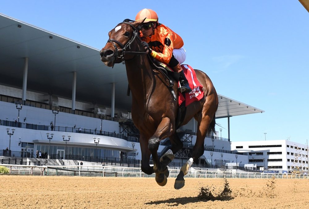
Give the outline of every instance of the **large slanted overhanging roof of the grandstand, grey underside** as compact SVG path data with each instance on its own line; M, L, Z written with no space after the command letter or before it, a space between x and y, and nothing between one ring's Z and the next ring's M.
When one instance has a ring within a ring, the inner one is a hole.
M73 73L77 72L76 100L111 106L112 83L115 106L131 109L125 66L105 66L99 50L32 26L0 13L0 83L22 88L24 58L29 58L27 89L72 97ZM104 89L104 90L102 90ZM242 102L219 97L217 118L264 112Z

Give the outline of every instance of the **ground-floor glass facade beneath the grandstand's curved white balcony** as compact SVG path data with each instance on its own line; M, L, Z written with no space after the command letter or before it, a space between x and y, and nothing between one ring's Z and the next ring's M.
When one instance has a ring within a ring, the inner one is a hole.
M48 145L36 145L36 150L42 153L48 153ZM100 148L87 148L87 147L74 147L74 146L50 146L50 155L57 154L57 150L65 150L66 155L79 155L90 157L108 157L108 158L120 158L119 150L108 150Z

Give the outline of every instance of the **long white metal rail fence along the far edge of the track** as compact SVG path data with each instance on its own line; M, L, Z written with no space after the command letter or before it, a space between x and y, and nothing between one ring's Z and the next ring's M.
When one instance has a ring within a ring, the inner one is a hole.
M141 168L119 167L119 166L99 166L99 165L70 165L70 166L25 166L25 165L7 165L10 173L37 175L76 175L76 176L115 176L115 177L154 177L155 174L147 175L142 172ZM179 169L169 169L169 177L176 178ZM31 173L32 172L32 173ZM190 169L185 178L246 178L246 179L309 179L308 174L291 174L291 173L251 173L235 171L203 171Z

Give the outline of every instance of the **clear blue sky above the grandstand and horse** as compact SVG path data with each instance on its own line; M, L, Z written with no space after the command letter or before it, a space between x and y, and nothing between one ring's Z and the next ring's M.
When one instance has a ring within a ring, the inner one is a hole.
M97 49L143 8L183 38L185 63L206 72L218 94L265 111L232 117L231 141L267 133L266 140L306 143L309 13L297 0L0 1L4 15ZM227 138L227 119L217 123Z

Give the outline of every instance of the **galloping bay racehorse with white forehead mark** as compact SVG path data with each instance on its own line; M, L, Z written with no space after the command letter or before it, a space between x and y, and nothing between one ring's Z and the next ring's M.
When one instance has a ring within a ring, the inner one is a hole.
M143 20L124 20L109 33L106 45L100 50L101 61L108 67L125 62L129 88L132 92L132 119L140 131L142 152L142 171L148 175L155 172L156 182L164 186L169 175L167 165L175 153L183 148L183 143L176 134L178 101L174 99L171 88L176 93L177 81L170 87L166 77L150 64L148 53L141 44L139 27ZM218 108L218 95L210 78L202 71L195 70L198 81L203 86L204 95L200 101L188 105L183 123L193 117L197 120L197 138L191 153L192 158L180 169L174 188L184 187L184 175L193 162L204 153L204 140L207 133L215 131L215 113ZM174 94L175 94L174 93ZM169 137L171 148L159 159L157 151L161 140ZM153 166L150 166L150 155Z

